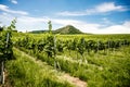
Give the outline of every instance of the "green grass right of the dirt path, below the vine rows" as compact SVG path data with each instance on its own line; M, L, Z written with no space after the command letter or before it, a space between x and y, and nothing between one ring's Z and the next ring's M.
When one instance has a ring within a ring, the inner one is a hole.
M26 49L23 49L26 50ZM27 53L32 52L26 50ZM76 54L75 52L72 52ZM79 64L69 53L64 52L63 58L57 58L62 71L70 73L88 83L88 87L129 87L130 84L130 47L122 47L116 52L109 51L107 54L102 52L84 53L88 64ZM64 55L70 57L65 60ZM54 60L48 60L44 53L38 53L38 59L48 62L53 66ZM78 55L80 57L80 55ZM80 58L78 58L79 60Z

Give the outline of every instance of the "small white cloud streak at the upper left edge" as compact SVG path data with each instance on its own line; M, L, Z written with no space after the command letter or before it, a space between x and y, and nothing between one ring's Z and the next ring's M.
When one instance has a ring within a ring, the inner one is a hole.
M11 9L9 9L9 7L6 7L4 4L0 4L0 10L3 11L3 12L13 13L13 14L21 14L21 15L27 15L28 14L25 11L11 10Z

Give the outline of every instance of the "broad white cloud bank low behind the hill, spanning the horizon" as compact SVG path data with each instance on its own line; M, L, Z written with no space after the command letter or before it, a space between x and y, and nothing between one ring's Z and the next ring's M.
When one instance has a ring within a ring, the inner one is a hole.
M9 25L14 18L12 14L2 13L0 20L2 24ZM106 20L106 18L104 18ZM77 20L64 20L64 18L51 18L47 16L32 17L32 16L18 16L16 23L16 29L20 32L30 32L38 29L48 29L48 22L52 21L54 29L63 27L65 25L73 25L84 33L92 34L130 34L130 21L126 21L122 24L103 26L103 24L87 23Z

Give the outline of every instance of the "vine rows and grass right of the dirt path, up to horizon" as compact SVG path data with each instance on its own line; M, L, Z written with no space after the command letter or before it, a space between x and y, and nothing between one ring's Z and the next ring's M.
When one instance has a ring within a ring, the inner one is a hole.
M15 46L57 70L86 80L89 87L127 87L130 85L128 37L130 35L26 34L17 40L15 38Z

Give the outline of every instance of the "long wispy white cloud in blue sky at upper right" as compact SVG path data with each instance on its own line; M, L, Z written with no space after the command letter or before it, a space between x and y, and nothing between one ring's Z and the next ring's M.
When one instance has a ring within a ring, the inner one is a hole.
M107 13L107 12L120 12L120 11L126 11L127 9L123 5L116 5L114 2L105 2L101 3L93 9L87 9L84 11L77 11L77 12L69 12L69 11L64 11L57 13L57 15L63 15L63 16L82 16L82 15L91 15L91 14L99 14L99 13Z

